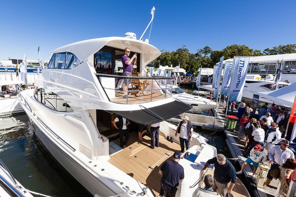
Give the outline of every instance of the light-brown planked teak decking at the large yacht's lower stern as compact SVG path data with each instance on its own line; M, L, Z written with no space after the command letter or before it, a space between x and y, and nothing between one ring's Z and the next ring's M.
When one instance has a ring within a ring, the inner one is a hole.
M158 173L160 166L166 160L172 160L172 154L180 151L178 143L166 140L163 133L159 133L160 146L155 149L149 148L150 137L144 136L144 141L138 140L138 132L131 133L127 147L112 156L109 162L120 170L138 180L149 189L155 196L160 192L161 175ZM113 141L120 146L119 139ZM213 171L208 170L213 175ZM237 180L233 189L233 196L248 196L247 191L240 180Z

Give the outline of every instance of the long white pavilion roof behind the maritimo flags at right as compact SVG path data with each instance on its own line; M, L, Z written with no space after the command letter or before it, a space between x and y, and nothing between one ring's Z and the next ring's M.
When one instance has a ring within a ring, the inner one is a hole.
M262 63L262 62L276 63L278 61L281 62L282 59L284 62L296 61L296 53L250 57L250 63ZM233 58L224 60L223 64L225 64L225 62L233 62ZM219 62L217 64L219 64Z

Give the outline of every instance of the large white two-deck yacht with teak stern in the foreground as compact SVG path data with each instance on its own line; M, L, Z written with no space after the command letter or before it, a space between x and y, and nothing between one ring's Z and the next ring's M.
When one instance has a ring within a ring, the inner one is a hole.
M148 41L135 38L126 33L124 38L97 38L55 49L36 88L18 94L43 146L93 196L156 196L161 164L180 150L176 126L163 120L192 107L174 99L172 77L114 75L115 61L126 47L131 56L137 53L137 71L160 55ZM125 99L116 87L126 78L132 79L132 86L127 92L131 98ZM136 131L123 149L112 125L117 115L129 119L130 131ZM160 146L151 149L147 136L138 140L135 125L156 122L161 122ZM190 146L179 162L185 179L177 196L192 195L201 184L202 167L216 155L216 148L197 134Z

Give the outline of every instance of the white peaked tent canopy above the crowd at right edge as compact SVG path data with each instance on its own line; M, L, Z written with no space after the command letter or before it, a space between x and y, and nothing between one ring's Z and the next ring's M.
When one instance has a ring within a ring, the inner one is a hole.
M268 92L258 92L260 97L270 100L270 103L275 103L276 105L292 108L295 95L296 95L296 82L285 86L284 88L279 88L277 90ZM259 97L259 100L260 100Z

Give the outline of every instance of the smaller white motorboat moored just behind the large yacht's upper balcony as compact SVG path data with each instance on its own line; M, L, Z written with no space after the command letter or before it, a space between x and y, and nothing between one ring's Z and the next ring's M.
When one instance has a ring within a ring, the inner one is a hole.
M172 95L175 99L178 99L179 101L191 105L192 108L189 109L188 112L195 114L207 112L208 110L214 108L217 104L215 101L204 98L202 96L187 94L176 85L173 85Z

